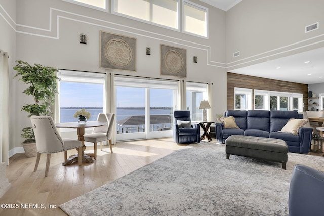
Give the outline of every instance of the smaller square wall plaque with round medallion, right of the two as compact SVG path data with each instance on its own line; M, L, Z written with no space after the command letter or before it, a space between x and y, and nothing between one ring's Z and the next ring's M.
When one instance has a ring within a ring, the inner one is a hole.
M186 50L161 44L161 75L186 77Z

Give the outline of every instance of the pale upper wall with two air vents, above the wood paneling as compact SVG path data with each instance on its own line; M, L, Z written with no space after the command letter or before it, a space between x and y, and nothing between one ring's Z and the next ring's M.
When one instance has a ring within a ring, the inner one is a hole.
M241 1L226 12L228 71L324 47L323 8L322 0ZM319 29L305 33L316 22Z

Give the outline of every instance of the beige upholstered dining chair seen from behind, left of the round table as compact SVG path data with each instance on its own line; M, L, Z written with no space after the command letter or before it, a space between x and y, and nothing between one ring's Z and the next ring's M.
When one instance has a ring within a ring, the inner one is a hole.
M35 134L37 158L34 172L38 168L41 154L46 154L45 176L48 176L51 154L64 151L64 160L67 160L67 150L77 149L78 164L82 164L82 142L69 138L62 138L57 131L51 116L31 116L31 125Z

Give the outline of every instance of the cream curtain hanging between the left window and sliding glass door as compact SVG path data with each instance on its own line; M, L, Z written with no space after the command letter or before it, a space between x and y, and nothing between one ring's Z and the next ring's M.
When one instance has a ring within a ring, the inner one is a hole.
M105 89L106 89L106 113L115 113L116 111L116 104L115 104L115 74L113 72L106 73L106 82L105 82ZM112 127L112 137L111 143L113 145L116 144L116 116L114 118L114 123Z

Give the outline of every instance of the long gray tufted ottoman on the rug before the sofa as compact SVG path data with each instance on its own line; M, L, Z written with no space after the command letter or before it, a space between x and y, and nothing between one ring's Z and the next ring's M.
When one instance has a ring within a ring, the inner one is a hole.
M231 135L225 140L226 158L239 155L282 163L282 169L286 169L288 146L284 140L252 137L243 135Z

